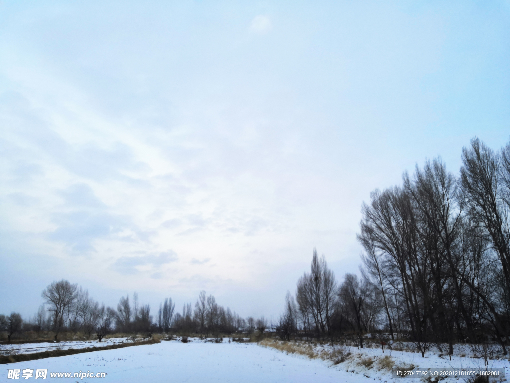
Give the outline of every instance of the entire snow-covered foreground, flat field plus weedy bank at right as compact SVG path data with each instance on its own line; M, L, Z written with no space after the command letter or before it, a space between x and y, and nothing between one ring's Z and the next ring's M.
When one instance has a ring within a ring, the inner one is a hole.
M114 342L114 340L109 340ZM312 358L299 353L287 353L270 346L256 343L214 343L212 340L190 338L189 343L179 340L158 344L93 351L68 356L4 364L0 368L0 381L8 379L9 369L47 369L46 381L97 381L95 377L64 379L52 377L52 372L106 372L100 381L105 382L369 382L405 381L392 378L392 367L420 368L483 368L480 358L455 355L448 356L380 348L347 347L350 352L345 361L335 364L324 357L328 352L342 346L315 345ZM274 344L282 342L273 342ZM103 344L103 342L101 342ZM273 344L273 346L274 346ZM292 343L296 345L296 343ZM298 344L299 345L299 344ZM309 344L302 344L310 349ZM390 359L388 358L390 357ZM385 359L386 358L386 359ZM388 363L391 362L391 363ZM489 368L504 368L510 376L508 359L490 360ZM34 374L35 375L35 374ZM72 374L71 374L72 377ZM20 377L22 378L22 377ZM31 377L30 379L34 379ZM411 379L411 378L408 378ZM464 382L466 379L446 379ZM419 383L424 379L407 380ZM500 380L501 381L501 380Z

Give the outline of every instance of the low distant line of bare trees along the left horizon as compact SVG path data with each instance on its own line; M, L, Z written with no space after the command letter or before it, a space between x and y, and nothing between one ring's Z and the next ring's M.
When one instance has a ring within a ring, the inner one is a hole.
M0 332L5 333L9 341L13 336L29 332L36 337L52 332L55 341L62 333L75 336L80 332L86 339L96 337L101 341L110 332L144 333L147 336L161 332L217 336L254 330L264 332L268 327L264 317L241 318L229 307L219 305L215 297L207 296L205 291L200 292L194 308L191 303L185 304L182 314L175 312L171 298L165 298L155 315L151 314L149 304L140 304L137 293L133 299L129 294L121 297L114 308L99 304L86 289L65 279L49 284L41 295L44 303L28 321L15 312L10 316L0 315Z

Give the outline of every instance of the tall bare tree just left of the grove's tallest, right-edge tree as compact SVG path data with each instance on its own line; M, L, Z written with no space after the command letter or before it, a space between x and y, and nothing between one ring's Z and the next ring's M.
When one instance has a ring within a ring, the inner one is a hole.
M446 170L442 159L436 158L432 162L426 161L423 169L417 166L414 180L405 175L404 187L416 208L421 253L427 259L432 279L429 323L436 340L449 344L451 355L453 324L459 312L473 334L455 267L463 207L458 203L457 182Z

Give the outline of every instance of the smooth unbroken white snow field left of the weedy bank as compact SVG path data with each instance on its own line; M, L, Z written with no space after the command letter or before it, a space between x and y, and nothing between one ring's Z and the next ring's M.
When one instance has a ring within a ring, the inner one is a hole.
M87 352L4 364L0 381L8 369L48 369L47 379L60 382L373 382L321 360L287 355L275 349L246 343L161 342L114 350ZM106 372L105 378L52 378L50 372ZM35 373L34 373L35 375ZM22 377L20 377L23 379ZM23 379L31 381L35 379ZM18 380L19 381L19 380ZM36 380L39 381L39 380Z

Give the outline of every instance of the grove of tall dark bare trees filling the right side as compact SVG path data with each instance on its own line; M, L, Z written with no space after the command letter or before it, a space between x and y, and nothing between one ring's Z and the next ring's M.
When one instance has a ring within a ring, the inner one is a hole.
M455 342L510 340L510 142L494 151L478 138L459 174L441 158L374 190L362 205L361 278L337 286L314 251L311 271L288 293L283 338L379 331L453 352Z

